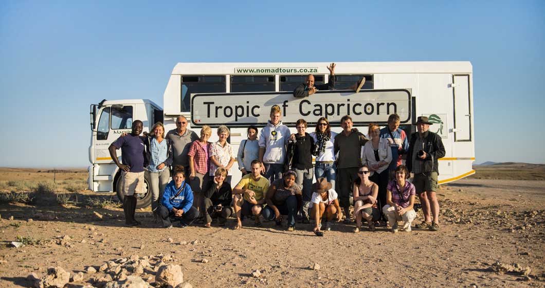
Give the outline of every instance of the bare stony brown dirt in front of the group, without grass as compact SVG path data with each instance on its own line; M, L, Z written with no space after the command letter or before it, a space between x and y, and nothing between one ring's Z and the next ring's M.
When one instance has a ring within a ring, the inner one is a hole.
M30 286L27 275L43 275L47 267L61 266L72 273L133 254L162 253L172 254L172 263L181 265L186 280L196 287L543 287L543 187L545 181L462 179L438 191L439 232L413 229L393 234L380 227L374 233L354 234L350 232L354 225L336 224L325 237L313 236L311 225L298 224L295 232L287 232L271 222L257 228L245 221L245 229L239 231L217 226L159 229L150 212L137 213L144 225L134 229L123 226L119 208L2 204L0 286ZM98 220L93 211L104 219ZM57 219L40 220L36 212L51 212ZM7 219L11 215L15 220ZM33 221L27 222L29 218ZM421 212L416 221L420 220ZM70 239L61 243L57 238L63 235ZM51 242L10 248L17 236ZM195 240L198 243L191 244ZM490 271L496 261L529 266L530 279ZM319 270L309 268L314 263ZM262 273L258 278L251 277L255 269ZM71 284L93 284L96 276L86 274L83 281Z

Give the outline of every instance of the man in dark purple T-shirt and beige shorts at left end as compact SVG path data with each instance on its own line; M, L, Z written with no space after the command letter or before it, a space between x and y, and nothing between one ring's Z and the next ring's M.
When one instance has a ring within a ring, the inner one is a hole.
M140 120L132 122L132 132L126 136L119 137L108 147L110 156L116 165L121 169L123 193L123 212L125 212L125 224L129 226L138 226L140 221L135 219L136 196L135 194L144 193L144 166L148 164L144 142L140 138L143 123ZM117 159L117 149L121 149L122 162Z

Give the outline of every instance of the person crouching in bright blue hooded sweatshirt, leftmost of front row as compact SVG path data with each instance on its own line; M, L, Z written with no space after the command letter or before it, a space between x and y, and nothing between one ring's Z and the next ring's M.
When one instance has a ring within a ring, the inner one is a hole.
M185 183L183 166L175 166L172 181L168 183L161 199L159 215L165 228L172 227L172 221L180 221L180 226L189 226L198 217L197 208L193 207L193 191Z

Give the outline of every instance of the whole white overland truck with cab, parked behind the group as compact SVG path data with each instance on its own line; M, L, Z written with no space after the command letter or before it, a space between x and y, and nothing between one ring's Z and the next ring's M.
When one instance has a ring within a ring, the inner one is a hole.
M116 192L120 171L113 163L108 146L132 121L141 120L144 131L158 121L165 133L175 128L175 118L184 115L188 129L199 134L204 124L231 129L228 141L237 153L246 139L250 124L264 127L270 106L280 105L282 121L295 133L295 122L304 118L307 132L314 131L319 117L327 117L332 130L340 132L340 118L350 115L354 127L367 134L367 125L386 125L388 116L401 117L400 128L409 137L418 116L428 116L434 133L445 145L439 159L439 183L472 175L475 160L473 129L473 67L470 62L341 62L335 69L336 89L319 91L311 97L294 98L293 89L308 74L316 84L329 81L329 63L178 63L163 95L163 107L150 100L103 100L90 106L92 136L89 146L89 189L97 193ZM366 78L359 93L343 87ZM118 151L118 156L122 157ZM232 167L233 185L241 176ZM146 207L151 195L138 198L137 207Z

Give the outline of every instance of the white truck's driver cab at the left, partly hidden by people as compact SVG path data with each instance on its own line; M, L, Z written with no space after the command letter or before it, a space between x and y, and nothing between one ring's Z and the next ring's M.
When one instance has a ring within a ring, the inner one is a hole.
M132 122L142 121L143 131L150 131L156 122L163 121L163 110L151 100L102 100L99 104L90 105L90 127L92 130L89 145L88 167L89 190L96 193L117 193L123 200L120 191L120 170L110 157L108 147L123 133L131 133ZM120 150L119 161L123 157ZM146 179L147 187L148 179ZM149 189L138 196L137 207L146 207L152 201Z

